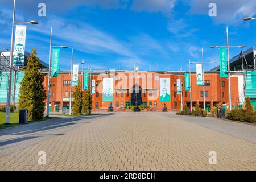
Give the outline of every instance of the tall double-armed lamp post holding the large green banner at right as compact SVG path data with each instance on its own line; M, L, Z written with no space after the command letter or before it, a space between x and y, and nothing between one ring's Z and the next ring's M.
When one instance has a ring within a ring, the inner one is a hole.
M246 47L246 46L229 46L229 31L228 27L226 27L226 42L227 46L210 46L210 48L216 48L216 47L226 47L228 50L228 82L229 82L229 110L232 110L232 99L231 99L231 81L230 81L230 63L229 63L229 48L230 47Z

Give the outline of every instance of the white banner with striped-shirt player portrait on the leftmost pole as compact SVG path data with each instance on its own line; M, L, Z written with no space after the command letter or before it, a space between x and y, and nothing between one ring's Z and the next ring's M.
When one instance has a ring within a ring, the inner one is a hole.
M13 64L24 67L25 43L27 26L16 25Z

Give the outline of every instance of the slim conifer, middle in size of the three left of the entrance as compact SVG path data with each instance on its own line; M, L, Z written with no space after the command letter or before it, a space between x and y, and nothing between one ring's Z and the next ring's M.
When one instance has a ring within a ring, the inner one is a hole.
M76 89L73 92L73 98L74 98L74 100L72 101L72 112L73 112L73 114L81 114L81 110L82 110L82 90L81 90L80 80L78 81Z

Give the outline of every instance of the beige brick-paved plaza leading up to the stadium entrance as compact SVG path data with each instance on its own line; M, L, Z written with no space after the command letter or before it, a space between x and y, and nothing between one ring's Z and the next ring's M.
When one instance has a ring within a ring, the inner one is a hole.
M39 165L39 151L46 165ZM209 151L217 152L210 165ZM0 170L256 170L256 126L171 113L52 119L0 131Z

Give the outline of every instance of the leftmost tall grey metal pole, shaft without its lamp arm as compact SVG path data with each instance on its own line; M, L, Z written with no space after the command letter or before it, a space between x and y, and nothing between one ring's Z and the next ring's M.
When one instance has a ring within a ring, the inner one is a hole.
M10 123L10 105L11 105L11 67L13 67L13 37L14 37L14 19L15 19L15 4L13 5L13 27L11 29L11 49L10 49L10 63L9 63L9 75L8 75L8 90L7 90L7 101L6 101L6 120L5 123Z

